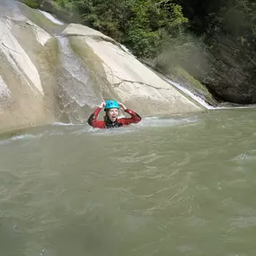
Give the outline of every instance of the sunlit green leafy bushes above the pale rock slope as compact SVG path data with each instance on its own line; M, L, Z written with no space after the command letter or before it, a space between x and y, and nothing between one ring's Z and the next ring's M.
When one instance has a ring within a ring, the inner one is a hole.
M137 57L156 57L159 51L172 47L174 41L184 43L181 37L188 19L183 16L180 5L167 2L56 0L60 6L73 4L84 24L125 43Z

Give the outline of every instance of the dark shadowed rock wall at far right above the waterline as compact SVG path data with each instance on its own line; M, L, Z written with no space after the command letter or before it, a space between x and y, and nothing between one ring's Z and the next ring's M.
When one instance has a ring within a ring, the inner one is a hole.
M255 54L234 39L216 36L211 50L209 66L203 83L210 93L224 102L256 103Z

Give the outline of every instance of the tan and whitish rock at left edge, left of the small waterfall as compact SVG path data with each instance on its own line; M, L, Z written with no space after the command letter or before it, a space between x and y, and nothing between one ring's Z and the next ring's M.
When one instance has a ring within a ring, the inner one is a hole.
M1 1L0 10L0 131L43 124L53 119L51 84L40 75L49 72L53 41L12 1Z

